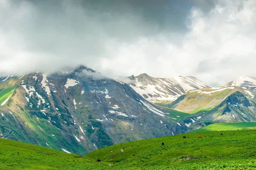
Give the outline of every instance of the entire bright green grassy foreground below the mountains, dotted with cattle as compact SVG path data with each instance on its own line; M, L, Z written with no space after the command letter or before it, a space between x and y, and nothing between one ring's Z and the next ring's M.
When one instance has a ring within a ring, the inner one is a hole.
M183 139L185 135L190 138ZM256 130L199 132L185 135L115 144L90 152L84 157L32 144L0 139L0 169L256 169ZM198 136L203 138L198 139ZM162 142L164 142L163 146ZM97 159L101 162L97 162Z

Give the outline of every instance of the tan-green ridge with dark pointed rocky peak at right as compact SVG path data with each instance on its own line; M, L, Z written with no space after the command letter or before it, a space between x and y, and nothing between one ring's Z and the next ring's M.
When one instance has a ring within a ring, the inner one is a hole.
M255 91L239 86L205 88L189 91L165 106L191 113L193 117L179 122L191 130L216 122L256 122L255 96Z

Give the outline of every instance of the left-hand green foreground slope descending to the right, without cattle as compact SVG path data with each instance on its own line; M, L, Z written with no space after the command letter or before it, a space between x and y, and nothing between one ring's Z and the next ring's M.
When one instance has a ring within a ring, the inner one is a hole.
M96 164L76 154L0 138L0 170L90 170Z

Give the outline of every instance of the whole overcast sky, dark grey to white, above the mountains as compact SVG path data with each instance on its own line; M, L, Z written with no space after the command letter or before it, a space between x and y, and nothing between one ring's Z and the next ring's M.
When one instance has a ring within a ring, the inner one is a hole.
M256 76L256 0L0 0L0 73Z

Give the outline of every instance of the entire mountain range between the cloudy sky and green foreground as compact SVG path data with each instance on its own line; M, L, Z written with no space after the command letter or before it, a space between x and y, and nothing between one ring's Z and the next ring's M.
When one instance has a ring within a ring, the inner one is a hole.
M255 88L255 77L212 88L195 77L111 79L83 65L2 76L0 137L83 155L215 122L255 122Z

